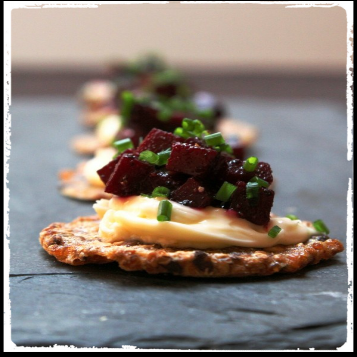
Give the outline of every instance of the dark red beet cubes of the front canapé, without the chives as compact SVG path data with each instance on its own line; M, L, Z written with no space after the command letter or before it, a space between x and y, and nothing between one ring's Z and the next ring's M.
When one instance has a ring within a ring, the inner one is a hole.
M171 153L166 165L158 167L139 160L142 151L158 153L168 148ZM120 197L150 195L156 187L166 187L171 201L198 209L225 208L254 224L266 225L274 191L259 187L258 200L252 205L246 197L246 185L254 176L271 184L272 170L268 163L259 162L249 172L243 164L243 160L209 147L198 137L184 139L154 128L136 149L125 150L97 172L106 185L106 193ZM228 202L215 199L224 182L237 186Z

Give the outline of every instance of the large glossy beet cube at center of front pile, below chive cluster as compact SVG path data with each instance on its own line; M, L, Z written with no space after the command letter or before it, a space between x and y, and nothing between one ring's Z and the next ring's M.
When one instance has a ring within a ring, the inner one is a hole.
M216 156L216 150L175 142L171 146L166 169L192 176L204 176L208 173Z

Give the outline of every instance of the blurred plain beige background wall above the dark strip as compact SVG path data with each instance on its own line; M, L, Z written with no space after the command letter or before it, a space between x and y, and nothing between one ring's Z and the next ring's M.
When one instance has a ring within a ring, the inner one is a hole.
M155 50L182 68L340 75L346 13L282 5L100 5L14 9L13 68L83 69Z

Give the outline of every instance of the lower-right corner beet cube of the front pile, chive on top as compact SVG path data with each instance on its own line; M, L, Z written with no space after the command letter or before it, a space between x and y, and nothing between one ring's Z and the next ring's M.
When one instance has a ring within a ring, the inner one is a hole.
M232 195L230 209L237 212L238 217L244 218L257 225L266 225L270 220L270 210L273 206L274 191L259 188L258 200L251 202L247 199L245 182L236 183L237 190Z

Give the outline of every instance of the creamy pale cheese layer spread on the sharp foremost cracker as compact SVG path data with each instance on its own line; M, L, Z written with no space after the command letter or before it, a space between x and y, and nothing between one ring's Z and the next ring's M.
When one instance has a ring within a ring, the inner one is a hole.
M171 221L158 222L157 208L162 199L131 196L97 201L93 207L101 218L100 237L105 242L139 239L177 248L265 248L301 243L316 233L310 222L275 217L263 227L221 208L193 209L173 201ZM271 238L268 231L275 225L282 230Z

